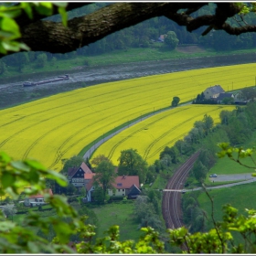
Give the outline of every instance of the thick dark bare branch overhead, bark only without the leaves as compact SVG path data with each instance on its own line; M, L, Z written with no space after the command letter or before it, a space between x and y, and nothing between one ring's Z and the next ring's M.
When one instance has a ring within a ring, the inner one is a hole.
M90 3L69 3L67 10L90 5ZM36 15L33 20L26 14L16 18L20 26L21 42L34 51L66 53L96 42L125 27L131 27L155 16L166 16L180 26L192 32L199 27L208 26L203 35L214 28L224 30L231 35L256 32L255 25L231 27L227 23L229 17L240 13L240 6L234 3L216 3L214 15L191 16L208 3L113 3L94 13L75 17L69 20L68 27L61 23L40 20ZM57 13L57 9L54 11Z

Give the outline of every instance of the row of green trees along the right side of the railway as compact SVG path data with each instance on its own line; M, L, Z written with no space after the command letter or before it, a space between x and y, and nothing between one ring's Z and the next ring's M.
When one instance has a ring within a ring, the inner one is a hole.
M251 102L246 107L236 107L233 111L220 112L221 123L212 129L205 138L200 138L200 146L204 146L197 162L193 166L186 186L194 179L199 184L204 183L209 169L216 163L219 152L217 144L226 142L231 145L240 145L247 142L256 128L256 103ZM197 203L197 192L188 193L183 197L184 221L191 232L206 231L206 213ZM199 220L198 220L199 219ZM197 221L198 220L198 221Z

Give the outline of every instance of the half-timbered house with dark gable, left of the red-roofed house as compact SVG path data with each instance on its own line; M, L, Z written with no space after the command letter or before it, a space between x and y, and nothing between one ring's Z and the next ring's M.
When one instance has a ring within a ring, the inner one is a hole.
M79 190L85 186L86 174L92 174L91 169L85 164L81 163L80 167L71 167L68 169L69 184L73 184Z

